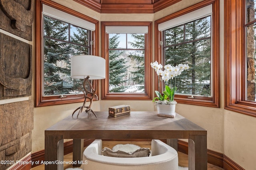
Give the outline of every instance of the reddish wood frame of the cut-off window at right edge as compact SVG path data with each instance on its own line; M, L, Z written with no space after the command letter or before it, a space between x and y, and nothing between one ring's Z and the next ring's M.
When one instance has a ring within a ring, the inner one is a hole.
M246 100L245 1L224 1L224 87L227 110L256 117L256 102Z

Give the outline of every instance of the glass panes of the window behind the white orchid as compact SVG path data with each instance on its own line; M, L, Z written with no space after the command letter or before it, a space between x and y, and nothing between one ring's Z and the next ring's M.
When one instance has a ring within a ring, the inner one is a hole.
M176 78L177 95L212 96L210 20L207 16L163 31L164 63L190 66Z

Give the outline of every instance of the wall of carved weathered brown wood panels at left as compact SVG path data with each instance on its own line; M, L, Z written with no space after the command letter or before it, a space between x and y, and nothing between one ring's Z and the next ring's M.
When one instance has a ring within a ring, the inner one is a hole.
M34 2L0 0L0 170L32 150L34 102L18 98L32 93Z

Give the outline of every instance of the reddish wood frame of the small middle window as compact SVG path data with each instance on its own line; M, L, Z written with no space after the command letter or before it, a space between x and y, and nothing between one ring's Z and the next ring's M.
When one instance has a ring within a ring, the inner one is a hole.
M148 26L148 33L145 34L145 89L144 93L110 93L109 84L109 60L108 60L108 34L106 26ZM102 100L152 100L152 71L150 62L152 59L152 22L101 22L101 51L102 57L106 59L106 78L102 81Z

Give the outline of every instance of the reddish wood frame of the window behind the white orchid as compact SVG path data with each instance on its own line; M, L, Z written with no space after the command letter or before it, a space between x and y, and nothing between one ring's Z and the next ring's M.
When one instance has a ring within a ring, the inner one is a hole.
M204 0L202 2L199 2L198 4L195 4L193 6L190 6L188 8L185 8L183 10L180 10L178 12L175 12L174 14L170 14L169 16L166 16L164 18L160 18L159 20L155 21L155 60L158 61L158 63L163 63L163 56L162 56L162 46L160 46L160 41L162 39L162 32L158 30L158 24L163 23L165 21L171 20L173 18L176 18L178 16L182 16L183 14L187 14L189 12L192 12L194 10L198 10L204 6L208 6L212 4L212 62L213 62L213 68L212 68L212 97L201 97L201 96L194 96L194 98L188 98L191 97L191 95L178 95L175 94L175 100L180 104L191 104L191 105L198 105L198 106L208 106L208 107L220 107L220 22L219 22L219 0ZM155 73L155 77L157 77L157 74ZM155 81L155 90L158 90L158 86L160 87L160 91L162 91L163 86L158 84L158 81Z

